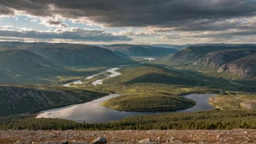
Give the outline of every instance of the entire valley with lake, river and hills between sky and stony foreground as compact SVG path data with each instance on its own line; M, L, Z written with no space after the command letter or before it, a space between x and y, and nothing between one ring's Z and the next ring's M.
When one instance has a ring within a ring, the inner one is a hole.
M1 44L0 129L256 128L251 45Z

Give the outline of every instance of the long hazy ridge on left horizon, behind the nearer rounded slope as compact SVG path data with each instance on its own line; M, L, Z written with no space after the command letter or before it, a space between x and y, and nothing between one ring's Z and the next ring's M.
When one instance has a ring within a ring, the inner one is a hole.
M59 65L101 67L124 65L131 60L119 57L111 50L85 44L0 42L0 49L27 49Z

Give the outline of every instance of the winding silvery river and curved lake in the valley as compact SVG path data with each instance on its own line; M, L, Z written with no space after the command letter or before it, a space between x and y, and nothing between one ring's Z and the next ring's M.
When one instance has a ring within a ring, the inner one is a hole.
M120 66L121 68L122 66ZM117 72L120 68L110 68L107 72L111 73L107 78L115 77L121 75ZM104 71L105 72L105 71ZM103 73L103 72L102 72ZM93 76L87 77L91 79L94 76L100 75L100 73ZM93 81L93 85L103 84L104 79L98 79ZM81 81L73 81L73 84L81 84ZM71 87L69 84L64 84L65 87ZM196 105L192 108L186 108L177 111L116 111L111 108L105 108L100 103L105 100L110 100L113 97L119 97L120 95L113 94L108 95L97 100L92 100L87 103L69 105L63 108L54 108L47 111L41 111L41 113L36 116L36 118L60 118L68 119L76 122L107 122L123 119L127 116L137 116L137 115L148 115L148 114L159 114L159 113L180 113L180 112L195 112L195 111L205 111L213 109L214 107L208 103L210 97L215 97L215 94L203 94L203 95L185 95L185 98L192 99L196 101Z

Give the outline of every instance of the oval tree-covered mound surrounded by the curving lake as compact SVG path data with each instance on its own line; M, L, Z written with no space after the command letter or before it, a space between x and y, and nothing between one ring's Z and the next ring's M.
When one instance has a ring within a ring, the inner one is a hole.
M136 93L107 100L101 105L118 111L164 111L191 108L193 100L164 93Z

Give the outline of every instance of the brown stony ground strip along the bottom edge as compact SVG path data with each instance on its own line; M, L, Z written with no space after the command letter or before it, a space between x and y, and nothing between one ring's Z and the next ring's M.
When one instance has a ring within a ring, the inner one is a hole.
M0 130L0 143L256 143L256 129L149 131Z

